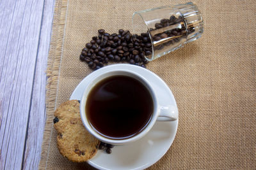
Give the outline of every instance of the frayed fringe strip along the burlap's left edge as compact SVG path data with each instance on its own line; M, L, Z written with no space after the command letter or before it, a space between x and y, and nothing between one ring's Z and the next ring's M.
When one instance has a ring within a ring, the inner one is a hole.
M56 106L56 96L58 89L58 77L60 72L61 52L63 36L65 32L65 22L67 15L68 0L56 0L54 6L54 19L52 23L51 46L47 60L47 85L46 85L46 122L44 139L42 143L41 159L38 169L46 169L47 155L51 141L52 119Z

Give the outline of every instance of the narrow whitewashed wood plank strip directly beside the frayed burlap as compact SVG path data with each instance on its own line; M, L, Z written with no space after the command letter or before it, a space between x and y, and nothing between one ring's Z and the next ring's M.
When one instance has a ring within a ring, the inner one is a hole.
M40 43L36 60L36 72L33 85L31 110L29 113L28 138L22 169L38 169L41 146L45 127L45 85L46 67L49 53L52 18L54 14L54 0L45 0Z

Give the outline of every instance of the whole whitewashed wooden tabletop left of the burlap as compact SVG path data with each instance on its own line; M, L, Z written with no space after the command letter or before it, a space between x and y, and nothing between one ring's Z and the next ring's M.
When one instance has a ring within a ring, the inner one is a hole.
M54 0L0 1L0 169L37 169Z

